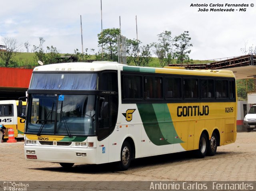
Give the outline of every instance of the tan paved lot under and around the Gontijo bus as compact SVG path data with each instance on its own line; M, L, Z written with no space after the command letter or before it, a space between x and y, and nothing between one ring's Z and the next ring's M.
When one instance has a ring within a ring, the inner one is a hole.
M212 157L190 152L136 159L127 171L111 164L80 165L26 161L23 142L0 144L1 181L256 181L256 132L240 132L234 144ZM4 162L3 162L4 161Z

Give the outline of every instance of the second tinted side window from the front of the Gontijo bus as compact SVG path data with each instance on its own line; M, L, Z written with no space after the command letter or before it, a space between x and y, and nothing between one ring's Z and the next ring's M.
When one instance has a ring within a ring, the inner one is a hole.
M145 77L145 96L146 99L162 98L162 77Z

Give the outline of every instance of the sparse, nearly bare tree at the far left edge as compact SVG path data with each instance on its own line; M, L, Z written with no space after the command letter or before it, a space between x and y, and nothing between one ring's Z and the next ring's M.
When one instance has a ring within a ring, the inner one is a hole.
M10 67L10 61L14 56L19 54L18 49L20 49L21 45L18 43L16 39L10 37L3 37L1 44L5 45L6 49L0 51L0 58L4 61L5 67Z

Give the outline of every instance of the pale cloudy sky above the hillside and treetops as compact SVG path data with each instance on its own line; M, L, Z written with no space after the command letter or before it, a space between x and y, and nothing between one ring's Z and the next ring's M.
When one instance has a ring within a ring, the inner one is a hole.
M192 7L191 4L207 4ZM210 8L230 9L225 4L248 4L234 7L234 12L212 12ZM210 4L224 4L210 7ZM251 6L255 4L255 6ZM206 8L208 12L198 12ZM246 8L246 11L239 11ZM236 11L237 10L237 11ZM29 51L44 37L44 48L53 45L60 53L82 51L80 15L84 49L98 50L101 32L100 0L3 0L0 6L0 38L14 37L28 41ZM256 2L254 0L102 0L102 26L119 28L122 35L138 39L143 45L157 42L165 30L172 36L189 31L192 59L218 59L242 55L240 49L256 45ZM26 51L23 46L23 51ZM92 52L89 52L92 54Z

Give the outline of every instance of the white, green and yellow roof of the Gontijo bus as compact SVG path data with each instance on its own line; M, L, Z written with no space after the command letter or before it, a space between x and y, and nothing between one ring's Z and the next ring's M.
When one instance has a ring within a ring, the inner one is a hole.
M72 72L72 71L102 71L102 70L120 70L139 73L161 73L161 74L179 74L179 75L198 75L198 76L218 76L218 77L235 77L229 70L186 70L183 68L154 68L154 67L137 67L119 64L117 62L96 61L92 63L58 63L43 65L34 68L33 72Z

